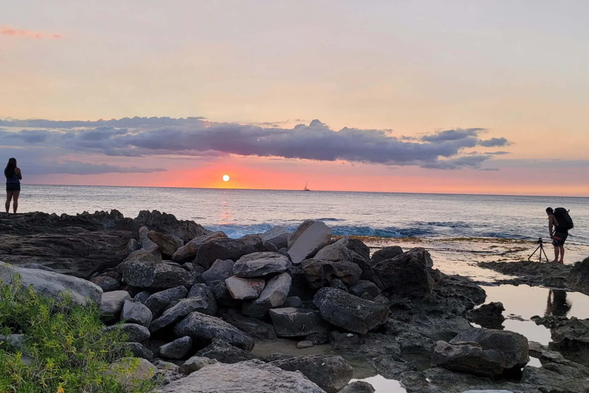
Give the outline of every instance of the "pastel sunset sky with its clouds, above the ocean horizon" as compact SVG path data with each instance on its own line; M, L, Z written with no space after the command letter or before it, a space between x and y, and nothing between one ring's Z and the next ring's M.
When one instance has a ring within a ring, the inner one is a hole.
M0 160L34 184L589 196L587 20L580 1L8 2Z

